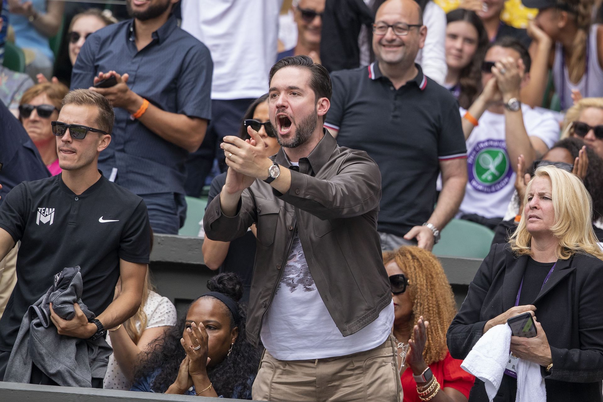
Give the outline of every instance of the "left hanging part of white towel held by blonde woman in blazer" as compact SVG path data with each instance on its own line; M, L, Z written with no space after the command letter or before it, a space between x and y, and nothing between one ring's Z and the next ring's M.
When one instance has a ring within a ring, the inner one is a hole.
M509 361L511 328L507 324L490 328L467 354L461 368L485 384L488 400L492 402L500 387Z

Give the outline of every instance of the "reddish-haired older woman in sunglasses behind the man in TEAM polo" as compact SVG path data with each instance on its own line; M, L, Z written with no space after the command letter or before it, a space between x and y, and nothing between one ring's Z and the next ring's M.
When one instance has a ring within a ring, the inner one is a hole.
M57 143L51 121L58 118L63 98L68 92L69 88L61 83L36 84L25 91L19 104L19 121L53 176L59 174L61 168L58 166Z

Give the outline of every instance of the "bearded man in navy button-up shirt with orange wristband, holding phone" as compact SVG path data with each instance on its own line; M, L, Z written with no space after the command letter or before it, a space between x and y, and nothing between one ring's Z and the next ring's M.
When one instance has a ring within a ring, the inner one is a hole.
M71 77L76 89L115 76L115 86L93 89L115 107L99 169L144 198L156 233L171 234L184 223L185 160L205 135L213 70L206 46L178 28L174 2L128 0L134 19L90 35Z

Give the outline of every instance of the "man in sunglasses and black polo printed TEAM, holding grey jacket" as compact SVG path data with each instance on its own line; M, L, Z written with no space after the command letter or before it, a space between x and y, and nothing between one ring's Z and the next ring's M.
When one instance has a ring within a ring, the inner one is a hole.
M21 319L63 268L81 267L82 301L96 321L88 322L76 304L70 321L52 313L59 334L99 336L140 306L150 251L147 208L142 198L97 169L99 152L111 140L113 119L103 96L85 89L70 92L52 127L62 174L19 184L0 206L0 259L21 240L17 284L0 319L0 380ZM122 290L113 301L120 276ZM53 383L35 367L32 378ZM103 378L93 384L102 387Z

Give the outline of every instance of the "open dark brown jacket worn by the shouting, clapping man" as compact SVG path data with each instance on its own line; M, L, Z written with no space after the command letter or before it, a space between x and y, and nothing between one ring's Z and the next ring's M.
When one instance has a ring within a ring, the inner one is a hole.
M283 149L271 159L291 167ZM223 215L216 196L204 217L205 235L228 242L257 226L256 262L247 334L257 345L287 262L297 227L312 279L343 336L374 321L391 301L377 234L381 175L364 151L343 148L325 130L291 187L281 194L256 180L241 196L236 216Z

